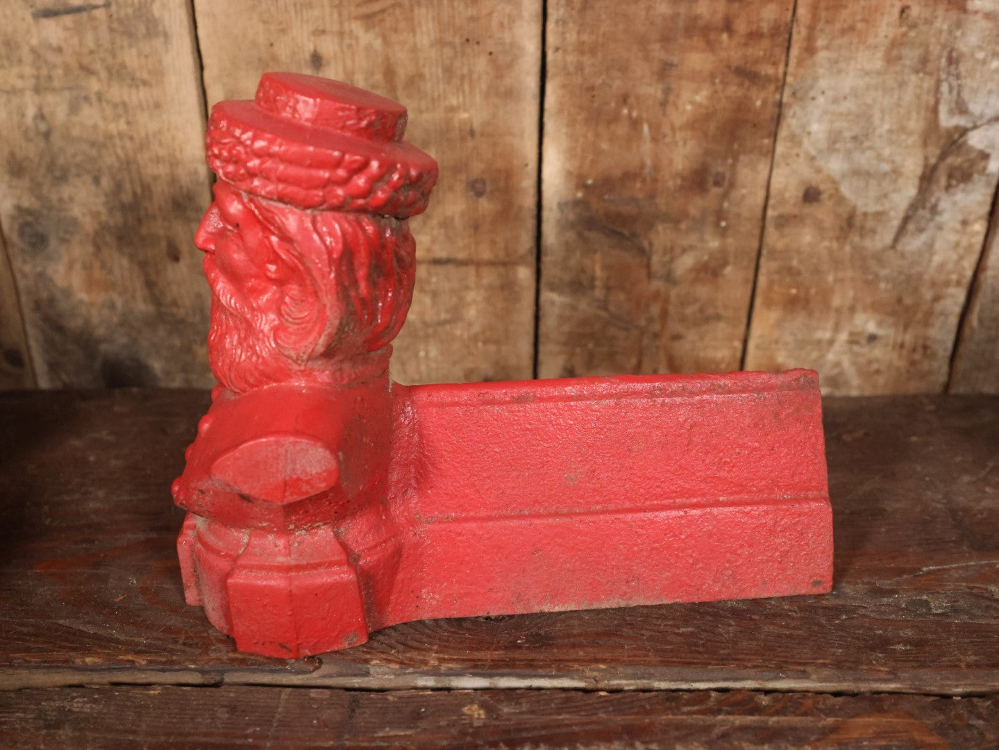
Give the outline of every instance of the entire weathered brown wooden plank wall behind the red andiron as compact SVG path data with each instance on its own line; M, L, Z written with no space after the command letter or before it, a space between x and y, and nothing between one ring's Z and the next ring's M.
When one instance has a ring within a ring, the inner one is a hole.
M17 0L0 23L0 388L211 382L205 111L287 69L405 102L441 163L401 380L999 392L994 0Z

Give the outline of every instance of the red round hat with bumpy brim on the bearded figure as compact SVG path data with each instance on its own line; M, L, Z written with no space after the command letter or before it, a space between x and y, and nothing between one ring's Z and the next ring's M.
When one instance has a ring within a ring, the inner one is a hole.
M219 102L208 166L251 195L302 209L406 219L427 208L437 162L403 142L406 108L339 81L265 73L251 101Z

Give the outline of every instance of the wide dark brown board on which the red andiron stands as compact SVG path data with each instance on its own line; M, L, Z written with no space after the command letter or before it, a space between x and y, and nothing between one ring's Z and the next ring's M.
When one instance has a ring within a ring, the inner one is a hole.
M832 594L414 622L298 661L183 602L200 391L0 394L0 687L999 693L999 398L831 399Z

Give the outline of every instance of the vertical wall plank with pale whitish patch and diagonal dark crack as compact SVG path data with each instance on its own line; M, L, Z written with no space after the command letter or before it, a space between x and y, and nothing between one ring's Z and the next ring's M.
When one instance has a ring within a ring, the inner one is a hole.
M746 367L941 391L999 174L999 6L800 0Z

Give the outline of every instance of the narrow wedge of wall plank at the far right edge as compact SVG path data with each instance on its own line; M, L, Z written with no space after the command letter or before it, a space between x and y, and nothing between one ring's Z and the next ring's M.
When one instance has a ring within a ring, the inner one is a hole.
M999 212L978 265L954 351L952 393L999 393Z

